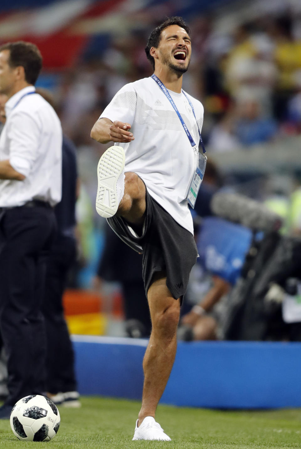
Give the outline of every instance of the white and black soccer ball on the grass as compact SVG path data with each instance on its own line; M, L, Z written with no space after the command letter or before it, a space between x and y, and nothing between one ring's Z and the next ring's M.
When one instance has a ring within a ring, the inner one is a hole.
M57 435L60 423L57 406L40 395L23 397L10 414L10 427L19 440L49 441Z

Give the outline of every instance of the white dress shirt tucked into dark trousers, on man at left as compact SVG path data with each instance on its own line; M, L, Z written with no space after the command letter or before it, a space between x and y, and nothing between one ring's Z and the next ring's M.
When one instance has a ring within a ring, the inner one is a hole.
M34 199L52 206L61 201L61 123L52 106L33 92L35 87L28 86L5 104L0 161L9 159L25 179L0 179L0 207Z

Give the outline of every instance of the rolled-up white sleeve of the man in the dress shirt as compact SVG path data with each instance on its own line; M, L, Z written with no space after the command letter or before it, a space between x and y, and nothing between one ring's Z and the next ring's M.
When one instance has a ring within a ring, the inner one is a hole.
M18 111L9 120L7 137L10 165L17 172L28 176L38 156L38 123L26 112Z

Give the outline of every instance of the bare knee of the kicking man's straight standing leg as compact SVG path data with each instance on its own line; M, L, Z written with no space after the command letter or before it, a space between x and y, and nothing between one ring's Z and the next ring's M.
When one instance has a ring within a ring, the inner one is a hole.
M152 317L153 332L161 338L172 339L177 333L179 323L179 301L174 300L166 309L154 313Z

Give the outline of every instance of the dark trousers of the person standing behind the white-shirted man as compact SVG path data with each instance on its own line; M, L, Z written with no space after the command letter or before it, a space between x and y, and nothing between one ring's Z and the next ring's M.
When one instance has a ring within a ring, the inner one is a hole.
M76 391L74 351L62 296L76 259L76 241L58 233L47 260L43 313L47 336L46 387L50 393Z

